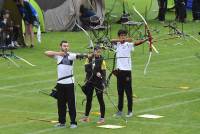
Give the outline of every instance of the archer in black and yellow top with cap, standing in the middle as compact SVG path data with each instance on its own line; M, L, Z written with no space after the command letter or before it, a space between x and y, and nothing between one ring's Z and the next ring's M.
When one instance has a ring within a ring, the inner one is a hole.
M96 46L94 52L86 59L85 63L86 82L82 87L86 95L85 115L81 122L89 122L89 113L92 107L93 92L95 89L96 96L100 105L100 117L97 124L105 122L105 103L103 92L106 84L106 63L101 56L101 48Z

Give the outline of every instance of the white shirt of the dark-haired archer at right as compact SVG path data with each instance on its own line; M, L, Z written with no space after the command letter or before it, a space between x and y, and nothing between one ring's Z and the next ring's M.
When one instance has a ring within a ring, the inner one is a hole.
M130 42L125 42L121 44L120 42L116 45L116 59L117 66L119 70L131 71L131 51L134 50L134 44Z

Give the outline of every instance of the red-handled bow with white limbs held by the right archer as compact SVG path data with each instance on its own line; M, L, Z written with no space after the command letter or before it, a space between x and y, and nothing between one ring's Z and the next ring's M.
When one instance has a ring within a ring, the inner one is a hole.
M151 32L150 32L150 29L149 29L149 26L147 24L147 21L145 20L145 18L139 13L139 11L135 8L135 6L133 5L133 9L134 11L140 16L140 18L143 20L144 24L145 24L145 29L147 31L147 34L148 34L148 41L149 41L149 58L148 58L148 61L145 65L145 68L144 68L144 75L146 75L146 72L147 72L147 68L150 64L150 61L151 61L151 56L152 56L152 49L156 52L156 53L159 53L157 51L157 49L153 46L153 41L152 41L152 35L151 35Z

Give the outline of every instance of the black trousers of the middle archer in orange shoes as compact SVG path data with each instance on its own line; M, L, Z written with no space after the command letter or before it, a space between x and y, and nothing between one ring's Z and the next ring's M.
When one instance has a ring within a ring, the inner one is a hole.
M103 86L102 86L102 82L96 82L96 83L92 83L92 82L87 82L85 85L85 90L87 91L87 95L86 95L86 109L85 109L85 116L88 116L92 107L92 99L93 99L93 92L94 89L96 91L96 96L99 102L99 106L100 106L100 113L101 113L101 118L104 118L105 116L105 103L104 103L104 99L103 99Z

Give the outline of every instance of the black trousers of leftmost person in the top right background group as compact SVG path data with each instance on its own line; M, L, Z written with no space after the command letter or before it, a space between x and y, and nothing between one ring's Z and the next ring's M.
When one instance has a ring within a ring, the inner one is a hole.
M159 13L158 13L159 21L165 20L166 11L167 11L167 0L159 0Z

